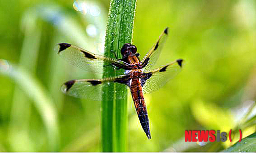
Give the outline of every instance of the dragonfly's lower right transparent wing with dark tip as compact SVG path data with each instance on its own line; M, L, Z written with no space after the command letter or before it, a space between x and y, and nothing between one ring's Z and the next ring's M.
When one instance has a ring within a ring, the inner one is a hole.
M182 68L181 59L143 74L141 78L144 94L152 93L173 79Z

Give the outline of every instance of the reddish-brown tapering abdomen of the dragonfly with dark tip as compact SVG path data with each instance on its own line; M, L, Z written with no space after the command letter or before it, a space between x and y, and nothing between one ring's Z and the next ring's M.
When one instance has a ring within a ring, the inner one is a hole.
M140 124L144 132L146 133L147 138L151 139L150 121L148 121L146 104L142 93L140 79L132 79L130 88L133 96L134 106L140 120Z

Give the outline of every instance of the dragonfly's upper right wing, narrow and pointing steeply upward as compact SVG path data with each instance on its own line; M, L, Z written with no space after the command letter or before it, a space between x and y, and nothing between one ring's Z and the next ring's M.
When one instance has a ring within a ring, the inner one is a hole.
M156 44L150 49L150 51L145 55L140 64L144 67L145 72L149 72L151 68L155 65L163 48L168 35L168 28L166 28L159 36Z

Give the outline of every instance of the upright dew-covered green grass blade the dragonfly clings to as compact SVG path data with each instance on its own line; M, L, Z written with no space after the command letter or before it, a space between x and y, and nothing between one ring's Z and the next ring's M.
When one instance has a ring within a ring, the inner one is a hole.
M105 36L107 57L121 58L120 49L124 43L132 42L136 0L112 0ZM123 73L113 67L104 67L103 77ZM122 96L122 99L115 97ZM124 85L108 85L102 94L102 149L103 151L125 151L127 137L127 88Z

